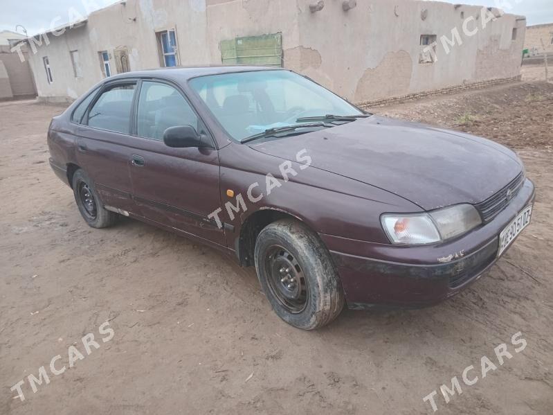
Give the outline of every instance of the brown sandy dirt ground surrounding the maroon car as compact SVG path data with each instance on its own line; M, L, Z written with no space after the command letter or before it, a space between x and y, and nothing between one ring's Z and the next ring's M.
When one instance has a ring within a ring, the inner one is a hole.
M450 301L345 310L314 333L280 321L253 270L212 249L132 220L87 227L47 162L61 111L0 104L0 414L429 414L422 398L471 364L480 380L447 405L438 391L439 414L553 414L553 85L374 110L514 146L538 188L533 221ZM100 341L90 355L87 333ZM500 366L502 343L513 356ZM69 368L72 345L84 358ZM67 369L53 376L56 355ZM497 369L482 378L484 355ZM50 383L33 393L42 366ZM21 402L10 387L23 379Z

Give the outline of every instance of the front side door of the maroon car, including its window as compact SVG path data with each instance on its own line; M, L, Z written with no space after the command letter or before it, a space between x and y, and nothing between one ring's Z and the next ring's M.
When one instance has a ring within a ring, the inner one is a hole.
M163 143L163 132L177 125L208 134L188 100L165 82L143 81L136 116L130 172L141 215L225 245L224 229L208 219L221 206L217 150Z

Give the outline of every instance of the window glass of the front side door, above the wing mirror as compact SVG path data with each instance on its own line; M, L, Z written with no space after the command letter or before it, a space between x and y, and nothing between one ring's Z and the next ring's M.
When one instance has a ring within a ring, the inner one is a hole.
M198 128L198 117L188 101L174 87L160 82L145 81L140 89L137 110L138 136L163 140L169 127L192 125Z

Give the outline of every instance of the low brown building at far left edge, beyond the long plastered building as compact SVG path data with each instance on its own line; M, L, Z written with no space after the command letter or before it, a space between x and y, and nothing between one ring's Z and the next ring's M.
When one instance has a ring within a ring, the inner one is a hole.
M10 30L0 32L0 100L37 96L28 59L21 62L17 53L10 51L11 45L20 39L25 39L25 36ZM26 48L21 53L28 56Z

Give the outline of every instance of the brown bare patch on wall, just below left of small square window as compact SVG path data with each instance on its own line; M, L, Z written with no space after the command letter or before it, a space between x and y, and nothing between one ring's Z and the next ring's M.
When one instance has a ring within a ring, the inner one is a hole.
M413 60L406 51L388 52L376 68L365 70L355 90L355 101L405 95L409 91ZM390 82L393 79L394 82Z

